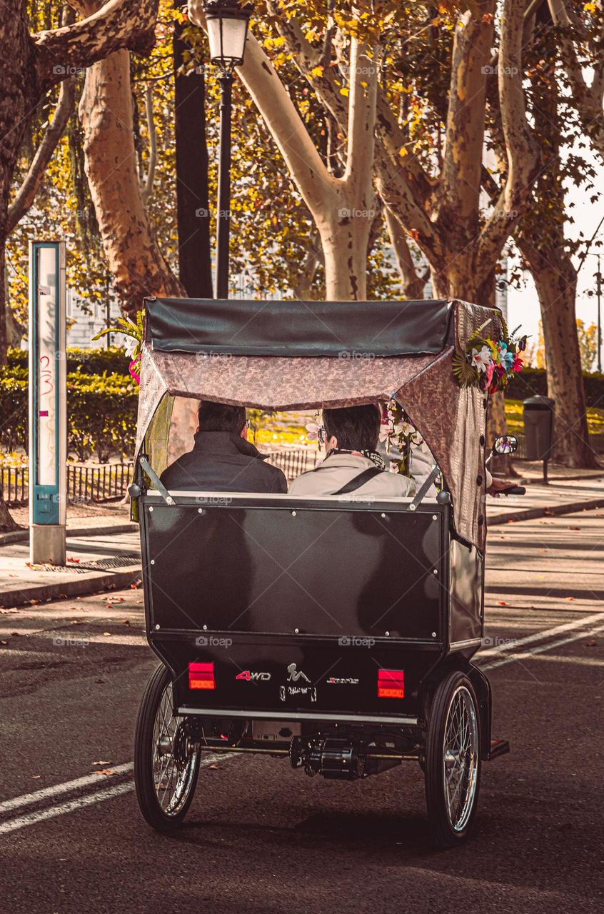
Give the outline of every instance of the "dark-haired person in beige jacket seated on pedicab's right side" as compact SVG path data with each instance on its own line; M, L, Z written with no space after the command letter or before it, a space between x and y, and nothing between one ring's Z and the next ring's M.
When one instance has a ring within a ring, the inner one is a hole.
M380 425L379 409L372 404L323 409L327 456L321 466L294 479L290 494L313 497L355 492L385 499L415 494L423 480L386 472L377 453Z

